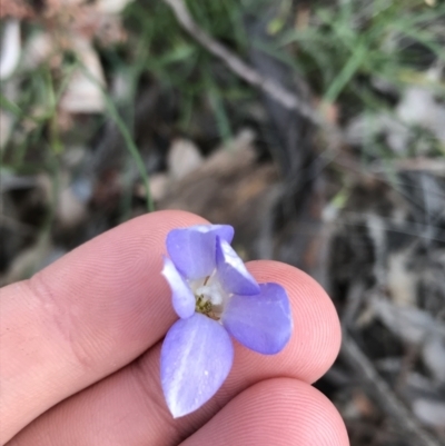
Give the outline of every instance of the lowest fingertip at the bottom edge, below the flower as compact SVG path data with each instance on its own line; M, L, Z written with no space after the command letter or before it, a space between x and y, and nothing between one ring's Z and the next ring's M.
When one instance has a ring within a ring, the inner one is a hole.
M349 445L333 404L305 383L261 381L233 399L180 446Z

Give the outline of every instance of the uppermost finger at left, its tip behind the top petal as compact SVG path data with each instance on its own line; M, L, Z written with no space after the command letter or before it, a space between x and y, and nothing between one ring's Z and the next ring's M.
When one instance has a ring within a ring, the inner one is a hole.
M165 335L175 320L165 238L201 222L181 211L137 218L1 290L0 443Z

